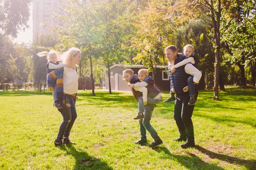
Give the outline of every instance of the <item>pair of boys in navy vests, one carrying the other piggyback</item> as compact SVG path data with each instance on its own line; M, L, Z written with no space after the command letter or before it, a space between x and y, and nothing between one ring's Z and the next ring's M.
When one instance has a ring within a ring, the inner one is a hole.
M131 88L134 98L137 100L138 103L139 103L139 101L142 103L139 105L139 107L141 107L141 105L145 104L145 107L143 105L143 110L142 110L142 108L139 108L139 112L143 113L143 111L144 111L143 119L139 119L141 139L134 143L136 143L136 144L147 143L146 130L148 130L148 132L154 139L154 141L151 144L149 144L148 146L156 147L160 144L163 144L163 141L160 139L156 130L154 130L154 128L150 124L150 120L151 120L151 116L154 111L154 108L156 107L157 103L161 102L162 96L159 93L160 92L159 89L155 87L154 80L151 77L148 77L148 71L146 69L141 69L141 70L142 71L139 71L140 78L137 74L134 74L134 71L132 71L131 69L126 69L124 71L125 81L128 82L131 87L134 87L134 88ZM145 83L138 84L138 85L136 85L137 86L137 88L136 88L134 84L136 84L138 82L143 82L143 80L145 80L145 82L147 82L147 85ZM145 100L143 101L143 98L145 98L145 96L143 97L143 93L145 93L145 88L147 89L148 96L147 96L146 101ZM142 93L142 91L143 91L143 93ZM151 98L149 96L151 96L151 97L154 96L154 97Z

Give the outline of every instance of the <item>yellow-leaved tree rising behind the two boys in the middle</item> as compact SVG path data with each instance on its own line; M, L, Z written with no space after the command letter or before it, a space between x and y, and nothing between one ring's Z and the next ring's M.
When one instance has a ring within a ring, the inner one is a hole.
M169 0L152 0L141 9L135 26L137 34L133 38L133 46L139 54L134 61L141 62L152 71L153 78L157 65L165 63L164 48L170 43L175 23L170 17Z

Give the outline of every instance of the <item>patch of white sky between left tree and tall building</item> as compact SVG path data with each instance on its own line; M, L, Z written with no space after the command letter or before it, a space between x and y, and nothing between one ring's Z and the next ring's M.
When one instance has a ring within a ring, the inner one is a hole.
M32 39L33 39L33 20L32 20L32 10L33 10L33 5L32 3L30 3L29 6L29 21L28 21L28 25L30 28L26 29L25 31L21 30L18 34L17 34L17 38L15 38L13 40L13 42L17 42L17 43L32 43Z

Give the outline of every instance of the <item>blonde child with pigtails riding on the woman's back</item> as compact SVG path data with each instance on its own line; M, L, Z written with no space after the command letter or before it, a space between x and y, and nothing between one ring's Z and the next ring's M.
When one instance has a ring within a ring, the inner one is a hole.
M52 72L53 70L55 70L57 68L62 68L62 67L67 66L66 64L59 62L61 53L59 53L58 51L51 49L49 52L42 51L42 52L38 53L37 55L39 57L44 57L44 56L47 57L47 60L48 60L48 62L46 64L47 74L49 74L50 72ZM61 104L58 102L56 85L51 90L52 90L52 95L53 95L53 100L54 100L53 106L58 109L62 108Z

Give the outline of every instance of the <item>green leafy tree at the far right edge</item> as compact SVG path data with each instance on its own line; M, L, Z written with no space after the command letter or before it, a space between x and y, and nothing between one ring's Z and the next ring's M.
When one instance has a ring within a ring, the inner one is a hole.
M234 64L240 68L241 87L246 87L246 66L251 67L253 85L255 86L253 62L256 59L256 2L254 0L235 0L229 2L226 8L221 20L223 45L233 57Z

